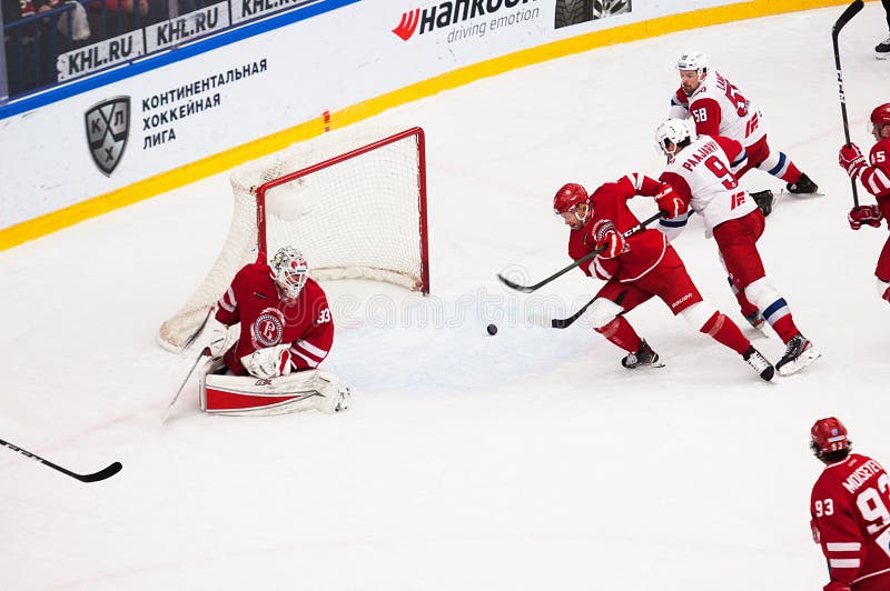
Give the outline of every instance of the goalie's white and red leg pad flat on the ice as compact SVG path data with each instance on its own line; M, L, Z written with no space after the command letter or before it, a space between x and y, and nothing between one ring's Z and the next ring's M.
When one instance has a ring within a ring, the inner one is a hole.
M225 371L226 363L218 358L208 360L201 368L204 412L250 417L305 410L339 412L349 405L349 389L325 371L299 371L271 379L226 375Z

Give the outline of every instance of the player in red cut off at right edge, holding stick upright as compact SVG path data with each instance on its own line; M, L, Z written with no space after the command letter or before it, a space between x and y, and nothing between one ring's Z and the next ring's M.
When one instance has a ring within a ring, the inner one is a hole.
M862 206L850 210L850 228L859 230L862 224L880 228L881 220L890 220L890 102L878 106L871 112L871 133L876 144L869 153L869 164L854 143L841 148L838 161L850 178L862 183L874 199L877 206ZM890 226L890 221L888 221ZM878 257L878 293L890 302L890 238Z

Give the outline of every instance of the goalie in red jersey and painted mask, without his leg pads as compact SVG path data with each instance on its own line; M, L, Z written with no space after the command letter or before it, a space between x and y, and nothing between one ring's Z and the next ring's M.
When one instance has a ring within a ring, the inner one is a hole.
M210 354L235 375L270 379L315 369L334 342L334 322L322 287L299 251L284 247L271 264L246 264L217 303ZM231 342L229 327L239 323Z

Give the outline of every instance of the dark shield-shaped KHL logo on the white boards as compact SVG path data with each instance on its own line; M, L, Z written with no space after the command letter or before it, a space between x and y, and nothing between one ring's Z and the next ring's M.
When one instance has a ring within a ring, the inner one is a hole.
M115 97L90 107L85 113L87 142L92 161L110 177L120 163L130 133L130 98Z

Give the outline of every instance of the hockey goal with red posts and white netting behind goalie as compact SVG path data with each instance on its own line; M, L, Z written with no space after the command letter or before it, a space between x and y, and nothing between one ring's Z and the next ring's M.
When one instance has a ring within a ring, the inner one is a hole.
M161 325L164 348L181 351L235 273L287 244L303 251L315 279L429 292L423 129L338 130L247 163L230 181L228 238L197 291Z

